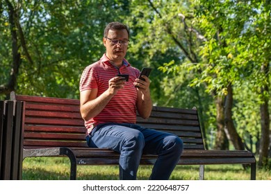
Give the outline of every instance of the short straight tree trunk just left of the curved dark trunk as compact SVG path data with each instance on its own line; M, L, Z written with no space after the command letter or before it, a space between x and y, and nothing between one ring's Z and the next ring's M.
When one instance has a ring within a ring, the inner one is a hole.
M224 98L218 96L215 99L217 134L215 136L215 150L229 150L229 141L224 132Z

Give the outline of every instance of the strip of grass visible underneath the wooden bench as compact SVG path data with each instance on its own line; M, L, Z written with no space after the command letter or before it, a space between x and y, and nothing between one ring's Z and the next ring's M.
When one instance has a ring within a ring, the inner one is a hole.
M83 167L88 168L88 167ZM78 170L78 180L118 180L119 175L114 168L111 172L108 170L95 170L89 172L88 170ZM106 168L106 167L105 167ZM249 170L243 170L242 166L233 168L232 166L206 166L205 172L207 173L249 173ZM147 180L151 174L151 166L140 166L138 172L138 179ZM199 166L176 166L174 173L172 173L171 179L198 179ZM69 180L69 170L54 171L45 170L44 168L24 168L22 179L24 180Z

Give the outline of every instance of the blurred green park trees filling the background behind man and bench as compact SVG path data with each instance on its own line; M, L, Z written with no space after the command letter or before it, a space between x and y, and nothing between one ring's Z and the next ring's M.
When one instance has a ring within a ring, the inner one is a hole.
M110 21L131 30L126 55L152 67L155 105L199 109L207 148L270 157L271 2L1 0L0 98L79 98Z

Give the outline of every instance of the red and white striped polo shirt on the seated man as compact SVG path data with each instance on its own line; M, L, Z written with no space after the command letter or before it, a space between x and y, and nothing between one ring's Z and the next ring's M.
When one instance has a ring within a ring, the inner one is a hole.
M97 96L100 96L108 89L108 81L111 78L118 73L129 74L129 81L126 82L125 87L117 91L117 94L97 116L85 121L88 134L94 126L100 123L136 123L137 92L133 82L140 75L140 71L131 67L127 60L124 60L124 65L120 67L119 71L104 54L99 61L86 67L81 75L80 91L97 88Z

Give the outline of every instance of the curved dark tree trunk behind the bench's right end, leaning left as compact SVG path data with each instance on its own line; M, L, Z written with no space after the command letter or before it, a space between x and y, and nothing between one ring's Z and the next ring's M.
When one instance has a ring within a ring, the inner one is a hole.
M236 127L234 126L233 119L232 119L232 107L233 107L233 89L231 84L227 87L228 94L225 99L225 109L224 109L224 122L225 127L224 131L227 134L227 138L231 143L233 143L233 146L236 150L245 150L245 145L240 138L239 134L236 131Z

